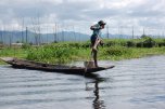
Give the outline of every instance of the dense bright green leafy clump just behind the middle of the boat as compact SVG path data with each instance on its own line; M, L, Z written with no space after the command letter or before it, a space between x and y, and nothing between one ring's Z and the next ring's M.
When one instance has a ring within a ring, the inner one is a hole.
M27 54L27 59L64 64L72 60L72 56L76 54L78 54L78 52L75 50L75 47L46 45L30 49Z

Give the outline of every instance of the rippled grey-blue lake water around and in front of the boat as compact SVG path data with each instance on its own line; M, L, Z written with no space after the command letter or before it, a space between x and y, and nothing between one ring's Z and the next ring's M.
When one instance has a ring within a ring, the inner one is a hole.
M165 56L99 62L97 78L0 66L0 109L165 109Z

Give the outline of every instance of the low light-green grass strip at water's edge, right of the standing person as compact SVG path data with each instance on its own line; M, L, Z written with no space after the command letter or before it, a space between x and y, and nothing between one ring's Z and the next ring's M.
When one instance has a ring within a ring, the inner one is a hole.
M165 47L125 47L125 46L115 46L103 49L101 51L100 59L111 59L111 60L120 60L120 59L130 59L130 58L140 58L149 55L160 55L165 54Z

